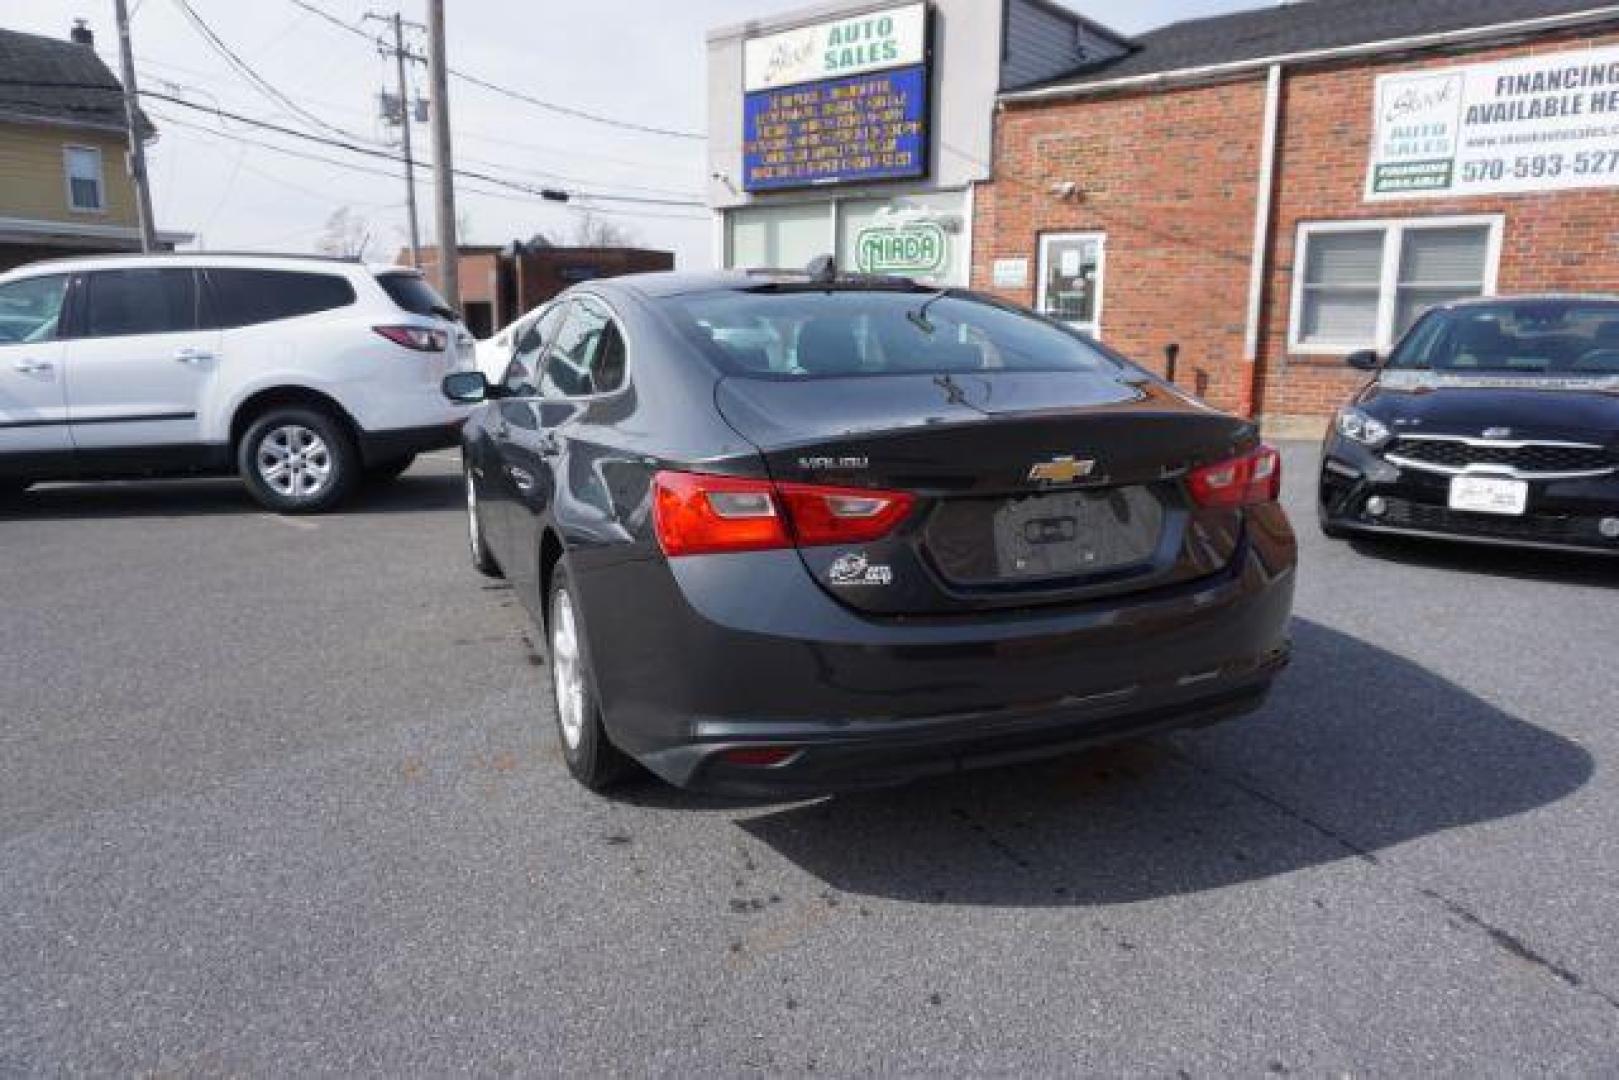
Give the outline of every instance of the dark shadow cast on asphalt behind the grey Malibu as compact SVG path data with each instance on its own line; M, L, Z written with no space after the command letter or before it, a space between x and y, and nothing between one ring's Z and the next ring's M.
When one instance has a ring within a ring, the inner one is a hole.
M1287 874L1554 803L1593 761L1318 623L1266 708L1203 732L740 818L842 892L1128 904Z

